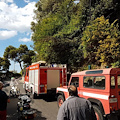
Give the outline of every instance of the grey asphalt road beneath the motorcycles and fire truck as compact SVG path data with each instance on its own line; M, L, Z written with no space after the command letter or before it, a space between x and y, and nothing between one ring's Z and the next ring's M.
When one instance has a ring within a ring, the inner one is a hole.
M21 80L19 80L18 88L20 88L20 94L25 94ZM4 87L3 90L9 94L10 86ZM17 102L18 98L10 98L10 103L7 105L7 120L17 120ZM37 99L32 99L31 107L37 111L35 120L57 119L58 107L54 96L43 95Z

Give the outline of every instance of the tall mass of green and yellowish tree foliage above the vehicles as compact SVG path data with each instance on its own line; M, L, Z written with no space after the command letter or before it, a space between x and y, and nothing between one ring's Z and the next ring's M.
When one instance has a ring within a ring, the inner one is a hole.
M38 59L66 63L70 71L88 64L117 62L120 1L80 0L78 4L74 1L39 0L36 3L37 22L31 23L31 30ZM106 50L109 52L105 53Z

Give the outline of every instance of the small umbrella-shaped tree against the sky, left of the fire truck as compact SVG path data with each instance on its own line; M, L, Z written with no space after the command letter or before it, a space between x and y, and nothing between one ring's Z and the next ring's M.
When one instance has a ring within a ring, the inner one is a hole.
M34 51L29 50L26 45L20 45L19 48L8 46L4 52L4 58L11 59L14 62L18 62L22 71L22 63L23 65L30 65L32 61L32 56L34 55Z

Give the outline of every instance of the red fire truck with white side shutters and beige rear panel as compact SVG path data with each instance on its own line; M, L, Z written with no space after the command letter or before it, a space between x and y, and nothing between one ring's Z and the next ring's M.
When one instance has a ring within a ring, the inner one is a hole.
M37 97L56 93L56 88L67 84L66 64L49 64L40 61L26 68L24 89Z

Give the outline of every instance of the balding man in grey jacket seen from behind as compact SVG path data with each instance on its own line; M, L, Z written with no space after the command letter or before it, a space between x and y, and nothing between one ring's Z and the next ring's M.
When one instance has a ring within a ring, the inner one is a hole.
M90 101L80 98L74 85L68 87L68 94L59 108L57 120L97 120Z

